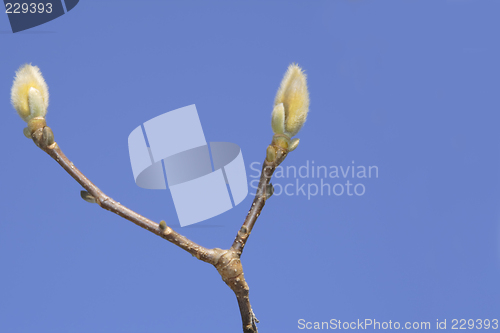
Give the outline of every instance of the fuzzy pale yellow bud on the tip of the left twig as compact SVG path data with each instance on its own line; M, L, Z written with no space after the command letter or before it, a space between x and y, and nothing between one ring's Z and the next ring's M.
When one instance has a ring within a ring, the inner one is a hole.
M49 106L49 88L37 66L21 66L14 78L10 100L24 121L45 117Z

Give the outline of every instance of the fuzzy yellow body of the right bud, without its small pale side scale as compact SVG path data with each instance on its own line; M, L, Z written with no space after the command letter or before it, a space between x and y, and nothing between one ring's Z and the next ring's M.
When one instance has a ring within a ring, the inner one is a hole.
M281 81L274 105L280 103L285 108L285 134L291 138L300 131L309 111L306 75L296 64L288 67Z

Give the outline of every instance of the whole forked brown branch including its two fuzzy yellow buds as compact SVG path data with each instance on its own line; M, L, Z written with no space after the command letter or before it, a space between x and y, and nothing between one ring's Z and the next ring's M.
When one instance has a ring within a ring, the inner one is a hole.
M271 114L271 127L274 132L273 141L267 147L266 160L262 166L258 190L252 207L229 250L204 248L172 230L166 225L165 221L161 221L159 224L153 222L104 194L73 165L54 141L54 134L50 127L46 126L45 120L48 98L48 87L40 73L40 69L28 64L21 66L16 72L16 78L12 85L11 101L19 116L28 124L28 127L23 131L24 135L32 138L38 147L56 160L67 173L87 190L87 192L82 191L82 197L86 201L97 203L102 208L179 246L199 260L214 265L222 280L236 295L243 322L243 332L257 333L256 323L259 321L250 305L249 288L243 275L240 257L266 200L273 194L273 186L270 184L270 180L276 167L299 144L299 139L292 139L292 137L304 125L309 111L309 92L307 90L306 76L302 69L296 64L290 65L281 81Z

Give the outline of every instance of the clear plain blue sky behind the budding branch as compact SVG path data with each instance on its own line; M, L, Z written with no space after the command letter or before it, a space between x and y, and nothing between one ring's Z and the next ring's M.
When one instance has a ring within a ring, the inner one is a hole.
M180 228L168 191L135 185L128 135L196 104L207 141L241 147L250 182L272 138L274 95L298 63L311 107L283 166L376 166L378 177L273 180L290 191L349 181L365 192L268 201L242 257L259 331L303 331L300 319L433 329L446 319L450 330L453 319L500 319L499 9L82 0L16 34L0 15L0 331L241 331L213 267L81 200L23 136L10 87L26 62L44 74L48 124L78 168L129 208L221 248L252 197Z

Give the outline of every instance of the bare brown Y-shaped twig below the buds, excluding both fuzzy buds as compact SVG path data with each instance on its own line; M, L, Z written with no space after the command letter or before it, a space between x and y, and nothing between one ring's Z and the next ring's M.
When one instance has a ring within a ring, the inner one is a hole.
M59 163L85 189L85 191L81 191L81 196L85 201L97 203L101 208L132 221L138 226L174 243L191 253L193 257L212 264L219 272L222 280L236 295L243 322L243 332L258 332L256 323L259 321L250 304L250 288L245 280L240 257L266 200L272 195L273 187L269 182L276 167L285 159L287 155L286 149L281 146L273 146L273 149L278 152L276 154L277 158L274 161L268 161L267 159L264 161L257 194L231 248L227 250L220 248L207 249L177 233L165 221L160 223L151 221L104 194L64 155L59 145L54 141L52 130L45 126L44 122L38 120L36 122L37 127L31 133L34 143Z

